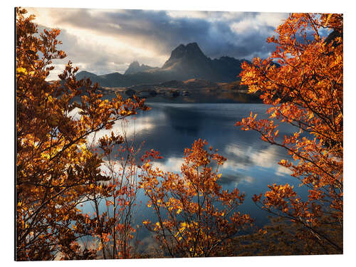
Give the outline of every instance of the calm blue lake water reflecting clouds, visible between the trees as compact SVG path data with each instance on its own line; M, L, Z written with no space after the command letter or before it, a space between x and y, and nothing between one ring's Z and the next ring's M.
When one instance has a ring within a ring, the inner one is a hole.
M258 113L258 117L266 117L266 105L184 103L182 98L174 100L174 103L157 103L152 100L147 100L147 105L152 108L150 111L140 112L135 120L130 120L127 135L135 134L137 144L145 141L144 150L153 148L161 153L163 159L153 162L156 167L179 172L184 148L191 147L198 138L206 140L208 146L219 149L219 153L227 158L220 169L222 187L237 187L240 192L245 192L246 200L239 211L250 214L258 226L268 222L269 214L256 207L251 200L253 194L266 192L267 184L273 183L295 184L297 191L300 191L298 181L290 177L288 169L277 164L281 159L290 158L285 150L263 142L256 132L241 131L234 126L236 121L247 117L251 111ZM210 102L214 102L214 98ZM120 132L120 128L120 124L114 126L115 131ZM288 135L293 130L288 125L281 125L279 134ZM108 132L100 132L100 135L104 133ZM302 195L305 196L305 192ZM142 201L142 205L137 210L137 224L142 219L155 221L152 211L145 206L147 199L142 193L138 201ZM90 206L84 209L89 211ZM147 236L148 233L142 230L140 239L149 240Z

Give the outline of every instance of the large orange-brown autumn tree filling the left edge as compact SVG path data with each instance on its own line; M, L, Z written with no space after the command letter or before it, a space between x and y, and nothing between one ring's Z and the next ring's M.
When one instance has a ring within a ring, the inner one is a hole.
M98 85L75 79L70 62L60 81L48 82L52 61L66 54L56 48L60 31L38 33L33 19L16 9L16 260L95 258L95 248L78 238L100 222L79 205L88 192L108 194L98 181L110 177L100 174L103 155L88 150L87 137L147 108L120 95L103 100ZM123 140L112 135L105 142Z

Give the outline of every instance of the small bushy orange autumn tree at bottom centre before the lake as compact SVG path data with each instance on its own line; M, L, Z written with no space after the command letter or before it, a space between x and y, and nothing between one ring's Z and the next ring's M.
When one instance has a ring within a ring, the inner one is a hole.
M231 192L218 184L219 167L226 160L217 152L205 150L206 141L196 140L184 150L181 174L162 172L150 164L157 159L155 151L147 152L142 160L142 188L150 199L157 221L144 221L164 254L172 257L206 257L226 255L228 241L252 220L240 214L237 207L244 193Z

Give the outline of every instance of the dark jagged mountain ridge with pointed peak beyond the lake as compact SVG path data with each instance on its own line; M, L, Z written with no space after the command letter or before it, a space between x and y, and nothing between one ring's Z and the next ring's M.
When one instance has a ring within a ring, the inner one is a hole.
M229 56L211 59L201 51L197 43L180 44L171 53L162 68L140 65L137 61L130 64L125 74L109 73L95 75L80 71L78 79L90 78L105 87L127 87L143 83L163 83L169 80L189 80L192 78L210 80L215 83L230 83L237 80L241 72L239 60Z

